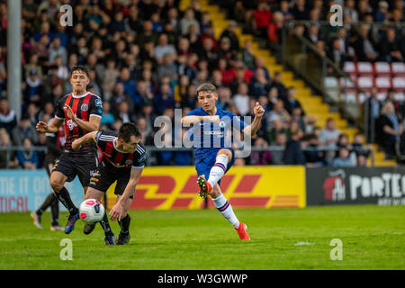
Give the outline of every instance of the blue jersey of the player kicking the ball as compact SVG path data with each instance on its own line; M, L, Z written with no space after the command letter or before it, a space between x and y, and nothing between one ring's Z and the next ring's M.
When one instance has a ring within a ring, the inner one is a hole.
M187 116L208 116L202 107L189 112ZM221 148L231 148L233 137L232 130L244 130L247 124L241 121L238 116L232 112L222 110L217 107L217 113L220 116L219 123L211 121L201 121L191 127L187 133L193 141L195 161L200 161L203 157L208 157L217 153Z

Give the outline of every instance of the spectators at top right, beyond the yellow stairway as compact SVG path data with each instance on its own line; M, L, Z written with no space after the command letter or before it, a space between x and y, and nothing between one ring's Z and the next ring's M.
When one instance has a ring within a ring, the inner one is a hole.
M229 16L242 23L247 31L268 40L269 47L279 49L281 33L287 21L297 23L294 31L311 41L322 55L338 65L346 60L404 60L405 6L403 0L222 0L223 7L233 4ZM343 26L336 21L338 4L342 7ZM322 23L324 22L324 23ZM374 25L377 23L377 25Z

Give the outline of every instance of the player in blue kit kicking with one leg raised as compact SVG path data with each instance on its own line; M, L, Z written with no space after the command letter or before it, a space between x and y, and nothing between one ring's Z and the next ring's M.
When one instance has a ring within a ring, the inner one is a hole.
M200 196L211 196L212 202L220 213L237 230L242 240L250 240L247 235L247 225L239 222L232 206L220 191L220 178L228 172L235 162L235 151L227 142L226 130L229 127L240 130L244 135L254 136L260 128L265 109L256 103L255 119L250 125L240 121L238 117L228 111L215 106L218 94L214 85L203 83L197 88L197 101L200 108L194 109L182 118L193 140L195 169L197 170L197 184L200 186ZM200 127L196 126L200 125ZM232 126L233 125L233 126ZM205 176L208 175L208 180Z

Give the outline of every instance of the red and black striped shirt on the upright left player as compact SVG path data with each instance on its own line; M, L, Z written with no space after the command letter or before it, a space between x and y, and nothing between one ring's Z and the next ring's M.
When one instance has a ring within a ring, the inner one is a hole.
M73 140L83 137L89 131L82 130L78 127L76 122L67 117L66 112L63 109L65 104L72 108L72 111L76 114L77 118L83 121L89 121L90 116L100 118L103 116L103 103L100 97L89 92L83 95L67 94L58 101L55 114L56 118L65 120L65 152L69 155L95 154L96 147L94 143L86 143L77 151L72 149Z

